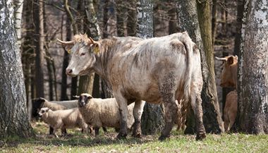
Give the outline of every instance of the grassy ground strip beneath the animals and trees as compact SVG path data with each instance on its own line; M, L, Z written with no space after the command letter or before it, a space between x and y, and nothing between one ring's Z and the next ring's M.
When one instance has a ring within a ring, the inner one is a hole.
M112 128L106 134L101 130L98 137L75 129L56 138L47 134L49 128L42 122L32 123L32 127L35 138L0 140L0 152L268 152L268 135L208 134L205 140L195 141L195 135L173 130L168 140L160 142L159 134L116 140Z

